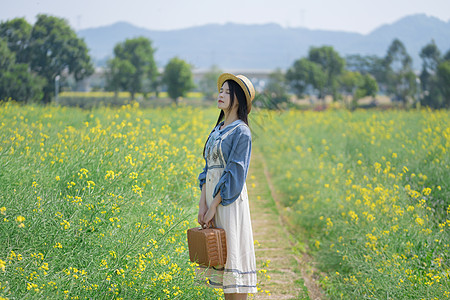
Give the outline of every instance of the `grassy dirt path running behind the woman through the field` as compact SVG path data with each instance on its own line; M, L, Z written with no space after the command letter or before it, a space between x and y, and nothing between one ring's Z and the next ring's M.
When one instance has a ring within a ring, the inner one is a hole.
M262 270L258 272L261 291L254 299L324 299L311 275L310 259L294 253L294 240L283 225L264 158L255 150L247 185L257 267Z

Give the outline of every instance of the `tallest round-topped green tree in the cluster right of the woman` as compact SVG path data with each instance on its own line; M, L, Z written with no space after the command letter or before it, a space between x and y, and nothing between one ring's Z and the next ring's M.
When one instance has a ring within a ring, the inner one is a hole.
M338 77L344 70L345 60L331 46L311 47L308 58L319 64L326 75L325 94L337 99Z

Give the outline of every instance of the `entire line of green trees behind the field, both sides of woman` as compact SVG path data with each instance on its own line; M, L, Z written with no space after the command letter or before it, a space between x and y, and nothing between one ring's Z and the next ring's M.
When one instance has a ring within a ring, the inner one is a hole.
M151 40L145 37L127 39L114 47L114 56L105 72L108 91L128 91L145 98L158 95L165 87L177 101L194 88L192 66L172 58L159 74ZM434 108L450 107L450 50L442 55L434 41L421 52L422 70L415 74L412 58L403 43L395 39L384 57L348 55L342 57L331 46L311 47L306 57L296 60L286 71L276 70L264 87L272 105L297 97L331 96L352 99L351 106L378 92L394 101L421 104ZM38 15L34 25L23 18L0 23L0 99L16 101L51 101L61 82L68 76L76 81L94 72L83 39L66 20ZM213 97L220 70L214 67L200 82L205 96ZM60 80L59 80L60 79Z

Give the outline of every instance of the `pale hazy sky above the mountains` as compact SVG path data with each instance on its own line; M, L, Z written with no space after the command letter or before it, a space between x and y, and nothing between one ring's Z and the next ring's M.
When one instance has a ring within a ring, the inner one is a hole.
M233 22L365 34L417 13L448 22L450 0L0 0L0 21L34 23L39 13L63 17L76 30L117 21L158 30Z

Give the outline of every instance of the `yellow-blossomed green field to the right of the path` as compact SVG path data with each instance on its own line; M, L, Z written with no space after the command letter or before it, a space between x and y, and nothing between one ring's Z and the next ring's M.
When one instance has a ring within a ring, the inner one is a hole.
M255 131L330 299L450 297L449 111L276 112Z

